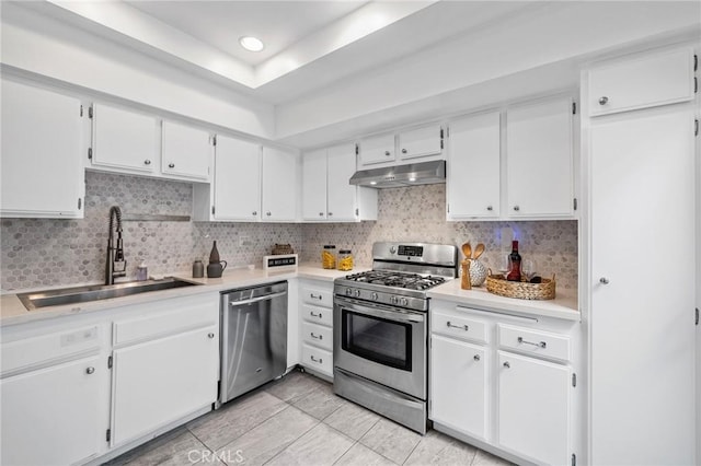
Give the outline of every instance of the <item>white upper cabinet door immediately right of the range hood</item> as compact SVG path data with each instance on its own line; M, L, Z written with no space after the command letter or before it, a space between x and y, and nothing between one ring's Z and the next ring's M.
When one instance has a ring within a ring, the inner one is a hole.
M452 121L448 139L448 218L499 217L499 113Z

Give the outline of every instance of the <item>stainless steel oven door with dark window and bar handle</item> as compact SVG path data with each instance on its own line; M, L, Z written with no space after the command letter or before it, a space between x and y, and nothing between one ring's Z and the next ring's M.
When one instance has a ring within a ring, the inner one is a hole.
M334 296L334 365L426 399L427 315Z

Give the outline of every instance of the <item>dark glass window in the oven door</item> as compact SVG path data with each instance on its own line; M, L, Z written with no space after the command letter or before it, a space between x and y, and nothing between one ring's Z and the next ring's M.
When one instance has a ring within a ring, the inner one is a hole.
M412 326L342 310L342 348L360 358L412 370Z

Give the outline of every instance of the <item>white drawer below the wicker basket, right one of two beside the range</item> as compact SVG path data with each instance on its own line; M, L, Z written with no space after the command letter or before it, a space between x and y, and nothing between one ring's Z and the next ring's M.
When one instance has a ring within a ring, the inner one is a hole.
M572 343L565 335L497 324L499 346L520 352L560 361L570 361Z

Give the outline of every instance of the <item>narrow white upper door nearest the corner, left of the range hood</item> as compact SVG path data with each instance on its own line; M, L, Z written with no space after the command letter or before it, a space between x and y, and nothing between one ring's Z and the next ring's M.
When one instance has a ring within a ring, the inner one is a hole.
M326 150L302 159L302 219L326 220Z

